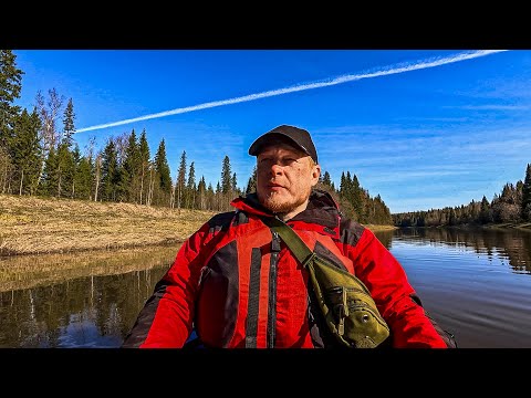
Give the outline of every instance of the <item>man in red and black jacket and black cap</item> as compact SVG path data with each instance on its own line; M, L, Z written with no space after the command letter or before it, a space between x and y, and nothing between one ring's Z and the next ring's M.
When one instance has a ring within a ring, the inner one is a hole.
M183 244L123 347L183 347L192 329L206 347L327 347L308 272L262 221L273 216L365 283L391 328L387 346L448 346L397 260L314 189L321 167L305 129L275 127L249 154L257 157L257 191Z

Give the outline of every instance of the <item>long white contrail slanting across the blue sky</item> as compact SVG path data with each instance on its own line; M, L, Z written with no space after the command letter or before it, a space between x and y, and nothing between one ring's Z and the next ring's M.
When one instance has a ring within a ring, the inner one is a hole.
M232 105L232 104L238 104L238 103L242 103L242 102L254 101L254 100L266 98L266 97L275 96L275 95L289 94L289 93L294 93L294 92L304 91L304 90L327 87L327 86L332 86L332 85L336 85L336 84L343 84L343 83L358 81L358 80L362 80L362 78L379 77L379 76L386 76L386 75L398 74L398 73L404 73L404 72L417 71L417 70L423 70L423 69L428 69L428 67L436 67L436 66L446 65L446 64L454 63L454 62L471 60L471 59L476 59L476 57L480 57L480 56L485 56L485 55L490 55L490 54L494 54L494 53L499 53L499 52L503 52L503 51L508 51L508 50L481 50L481 51L473 51L473 52L465 52L465 53L460 53L460 54L456 54L456 55L451 55L451 56L447 56L447 57L430 59L430 60L425 60L425 61L420 61L420 62L413 63L413 64L405 64L404 66L394 65L394 66L388 66L388 67L377 70L375 72L371 72L371 73L355 74L355 75L348 74L348 75L339 76L339 77L331 78L331 80L329 78L329 80L322 81L322 82L298 84L298 85L287 87L287 88L271 90L271 91L267 91L267 92L263 92L263 93L250 94L250 95L244 95L244 96L230 98L230 100L214 101L214 102L208 102L208 103L204 103L204 104L199 104L199 105L186 106L186 107L181 107L181 108L177 108L177 109L159 112L159 113L152 114L152 115L134 117L134 118L129 118L129 119L125 119L125 121L106 123L106 124L102 124L102 125L80 128L79 130L76 130L76 133L91 132L91 130L102 129L102 128L107 128L107 127L115 127L115 126L121 126L121 125L125 125L125 124L129 124L129 123L134 123L134 122L140 122L140 121L157 118L157 117L177 115L177 114L183 114L183 113L187 113L187 112L211 108L211 107L215 107L215 106Z

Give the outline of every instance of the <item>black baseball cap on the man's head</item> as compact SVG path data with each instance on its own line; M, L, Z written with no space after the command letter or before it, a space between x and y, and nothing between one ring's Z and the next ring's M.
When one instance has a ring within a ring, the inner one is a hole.
M285 139L288 143L310 155L313 161L317 164L317 151L315 150L315 145L313 145L310 133L303 128L288 125L274 127L272 130L269 130L268 133L264 133L258 137L249 147L249 155L257 156L260 154L261 148L266 144L271 143L274 139L279 139L279 137Z

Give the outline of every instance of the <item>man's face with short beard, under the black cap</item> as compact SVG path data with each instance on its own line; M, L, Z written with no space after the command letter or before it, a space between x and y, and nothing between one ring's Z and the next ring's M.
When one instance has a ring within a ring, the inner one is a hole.
M266 146L257 156L257 193L260 203L290 219L306 208L321 167L294 147L278 143Z

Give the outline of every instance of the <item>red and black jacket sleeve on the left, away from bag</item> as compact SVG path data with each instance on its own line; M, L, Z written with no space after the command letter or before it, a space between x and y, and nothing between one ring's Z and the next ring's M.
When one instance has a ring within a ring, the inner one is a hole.
M140 310L123 348L179 348L192 329L194 304L205 256L208 223L180 247L166 274Z

